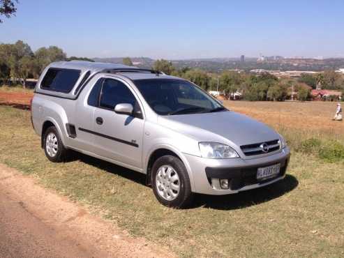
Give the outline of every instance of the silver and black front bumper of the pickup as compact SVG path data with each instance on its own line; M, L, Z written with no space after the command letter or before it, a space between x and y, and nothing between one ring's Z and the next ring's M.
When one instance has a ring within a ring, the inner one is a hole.
M253 188L260 188L279 181L285 177L290 158L290 149L285 148L278 153L253 159L209 159L187 155L193 180L193 191L206 195L228 195ZM267 167L281 163L280 173L273 178L257 181L258 167ZM218 189L212 185L211 179L229 179L229 189Z

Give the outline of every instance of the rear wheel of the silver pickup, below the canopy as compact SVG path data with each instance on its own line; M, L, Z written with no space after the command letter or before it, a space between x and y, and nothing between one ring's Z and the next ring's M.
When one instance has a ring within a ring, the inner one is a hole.
M57 128L51 126L44 133L44 152L52 162L63 162L67 157L67 149L63 146Z

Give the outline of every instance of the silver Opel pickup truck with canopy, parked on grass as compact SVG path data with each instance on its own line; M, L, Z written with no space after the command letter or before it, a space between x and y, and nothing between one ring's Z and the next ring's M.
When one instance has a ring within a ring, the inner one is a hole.
M51 63L31 112L49 160L74 150L146 174L158 201L171 207L190 204L195 192L274 183L290 157L281 135L197 85L120 64Z

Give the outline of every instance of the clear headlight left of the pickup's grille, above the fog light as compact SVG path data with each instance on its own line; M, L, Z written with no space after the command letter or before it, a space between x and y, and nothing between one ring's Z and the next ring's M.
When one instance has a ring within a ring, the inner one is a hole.
M237 151L230 146L217 142L200 142L202 158L239 158Z

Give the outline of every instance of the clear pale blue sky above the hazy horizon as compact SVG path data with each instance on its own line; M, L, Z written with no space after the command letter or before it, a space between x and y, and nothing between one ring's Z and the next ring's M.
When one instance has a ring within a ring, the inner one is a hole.
M68 56L344 57L344 1L19 0L0 43Z

